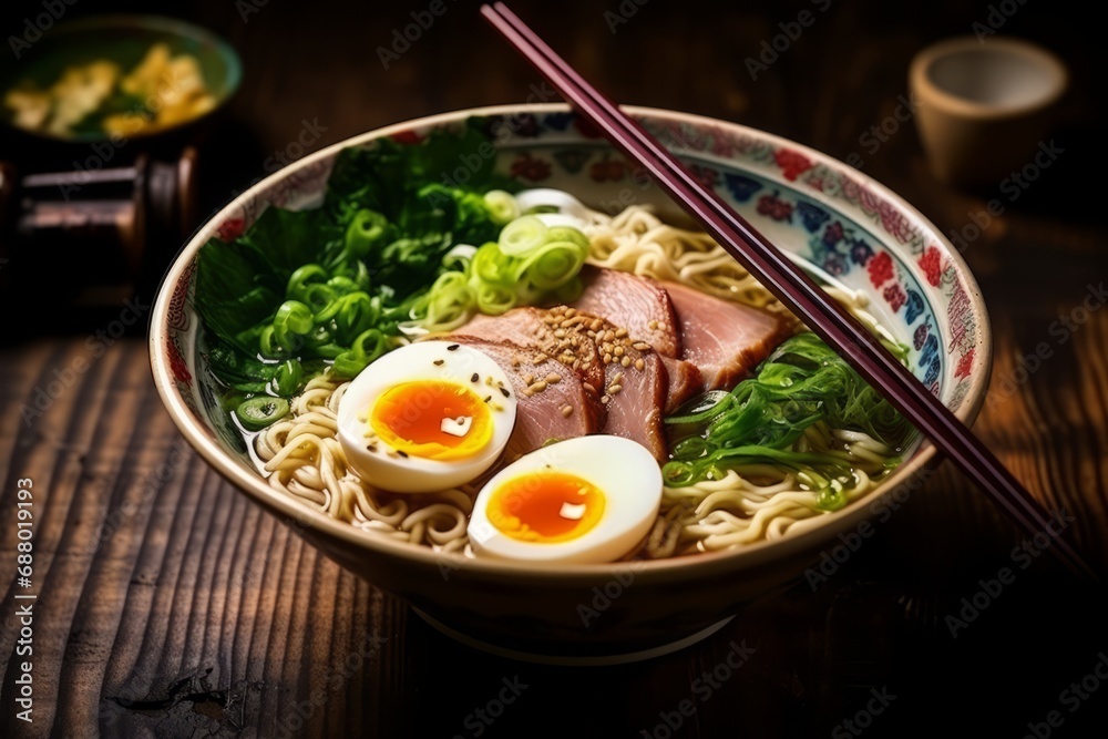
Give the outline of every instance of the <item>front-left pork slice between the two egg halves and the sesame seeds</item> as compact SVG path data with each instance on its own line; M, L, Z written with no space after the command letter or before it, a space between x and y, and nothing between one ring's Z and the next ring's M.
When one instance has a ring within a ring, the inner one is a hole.
M489 355L512 381L519 406L515 429L501 458L504 462L513 462L552 439L575 439L604 428L607 413L599 394L587 389L565 365L536 349L512 343L462 335L451 339ZM488 388L493 400L496 392Z

